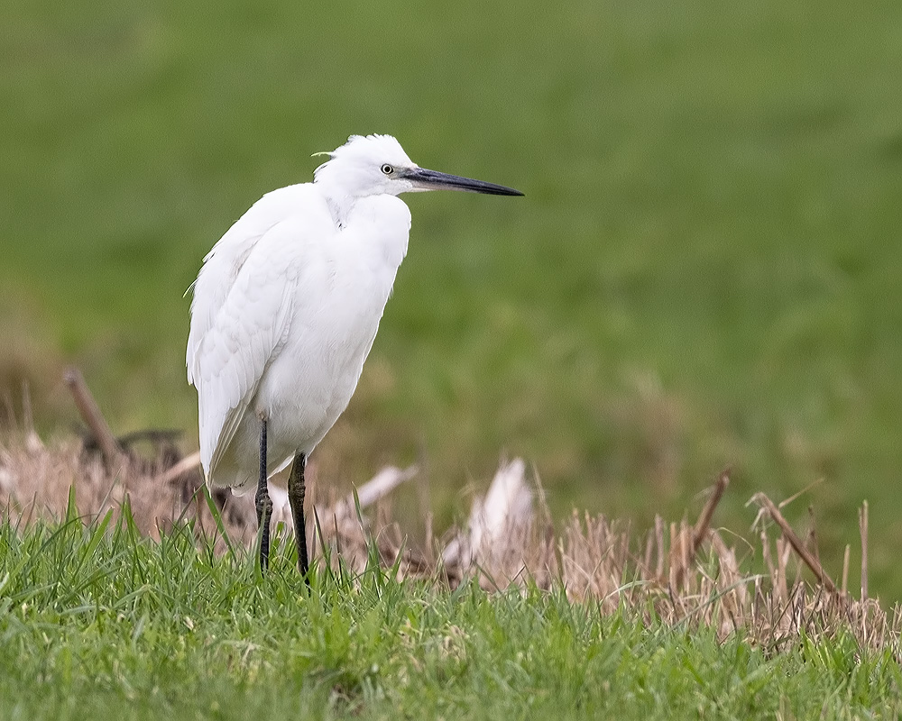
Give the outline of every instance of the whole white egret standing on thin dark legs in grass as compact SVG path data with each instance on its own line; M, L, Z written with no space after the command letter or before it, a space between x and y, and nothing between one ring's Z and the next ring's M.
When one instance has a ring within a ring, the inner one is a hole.
M350 401L407 253L400 193L510 187L421 169L391 135L352 135L312 183L258 200L207 253L194 282L188 380L198 389L208 485L257 481L269 562L267 479L293 460L289 500L307 574L304 466Z

